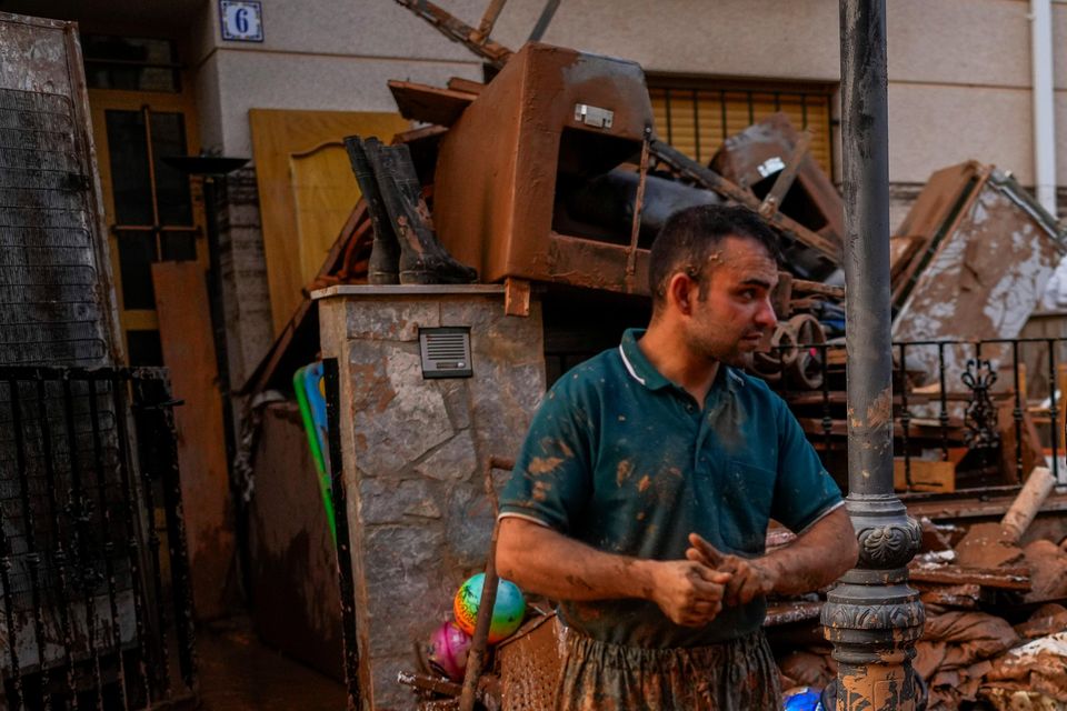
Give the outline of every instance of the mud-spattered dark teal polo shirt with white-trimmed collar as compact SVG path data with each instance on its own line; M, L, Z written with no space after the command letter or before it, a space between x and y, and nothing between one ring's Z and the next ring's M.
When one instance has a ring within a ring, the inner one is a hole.
M685 557L695 531L726 553L761 555L774 518L800 532L841 501L785 402L720 365L704 408L637 347L644 331L566 373L534 417L501 515L532 519L602 551ZM704 629L654 602L564 602L564 621L615 644L698 647L754 632L766 602L725 608Z

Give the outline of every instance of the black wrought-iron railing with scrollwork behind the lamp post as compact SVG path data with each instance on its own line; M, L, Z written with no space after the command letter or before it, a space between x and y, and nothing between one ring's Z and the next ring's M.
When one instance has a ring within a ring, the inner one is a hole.
M1048 465L1067 483L1067 339L895 342L894 450L906 487L916 461L956 463L956 490L1018 485ZM757 361L844 481L844 343L777 344Z

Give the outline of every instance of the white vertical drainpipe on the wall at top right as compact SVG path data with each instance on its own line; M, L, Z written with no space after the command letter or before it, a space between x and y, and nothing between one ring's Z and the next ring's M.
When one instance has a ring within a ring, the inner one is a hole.
M1030 0L1030 76L1034 84L1034 186L1037 201L1056 214L1056 106L1053 84L1053 1Z

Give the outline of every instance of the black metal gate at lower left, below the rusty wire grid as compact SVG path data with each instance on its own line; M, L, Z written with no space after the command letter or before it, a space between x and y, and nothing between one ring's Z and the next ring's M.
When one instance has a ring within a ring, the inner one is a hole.
M0 367L0 705L192 698L164 369Z

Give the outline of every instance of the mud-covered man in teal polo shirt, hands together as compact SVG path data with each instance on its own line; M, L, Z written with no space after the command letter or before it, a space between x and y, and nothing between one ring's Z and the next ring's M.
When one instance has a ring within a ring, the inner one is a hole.
M776 318L777 238L699 207L652 246L652 318L566 373L501 501L497 565L560 601L560 709L780 708L768 594L856 561L841 495L744 363ZM765 552L775 519L798 534Z

